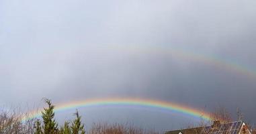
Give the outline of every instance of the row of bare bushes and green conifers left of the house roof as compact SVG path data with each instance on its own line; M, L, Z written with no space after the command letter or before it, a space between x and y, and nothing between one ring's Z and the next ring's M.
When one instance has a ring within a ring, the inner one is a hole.
M19 112L0 111L0 134L158 134L155 131L118 123L94 123L91 129L85 131L85 124L81 122L78 111L74 113L73 121L65 121L64 125L58 126L54 119L54 105L47 98L44 102L47 107L42 111L42 119L33 118L24 122L24 115Z

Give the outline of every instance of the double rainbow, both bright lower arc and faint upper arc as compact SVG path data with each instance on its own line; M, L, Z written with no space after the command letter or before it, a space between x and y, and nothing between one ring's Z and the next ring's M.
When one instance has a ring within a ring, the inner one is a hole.
M191 51L165 48L165 47L142 47L142 46L108 46L108 49L111 50L122 50L134 52L134 54L168 54L178 59L185 59L189 61L201 62L203 64L209 64L217 68L222 68L225 70L231 70L237 74L242 74L248 76L248 78L256 79L256 70L249 68L242 64L237 64L230 60L222 59L218 56L207 56L206 54L198 54ZM70 103L63 103L56 105L55 111L65 111L67 109L75 109L82 107L103 107L103 106L136 106L136 107L148 107L152 109L162 109L167 111L174 111L182 113L185 115L191 115L193 117L202 118L206 120L211 119L210 113L205 111L200 111L185 105L180 105L178 103L170 103L162 100L153 100L153 99L142 99L142 98L97 98L97 99L88 99L88 100L79 100L73 101ZM32 111L22 119L22 121L27 121L35 117L40 117L42 110Z

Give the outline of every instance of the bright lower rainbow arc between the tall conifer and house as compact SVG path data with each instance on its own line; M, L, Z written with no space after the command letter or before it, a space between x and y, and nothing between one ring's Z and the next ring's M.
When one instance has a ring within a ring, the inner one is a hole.
M198 109L192 109L185 105L179 105L177 103L170 103L163 100L142 99L142 98L97 98L88 100L73 101L70 103L63 103L56 105L54 112L67 111L69 109L78 109L83 107L104 107L104 106L136 106L136 107L148 107L152 109L159 109L163 111L173 111L190 115L192 117L204 119L210 121L210 113L200 111ZM38 118L41 116L42 110L32 111L28 113L22 121L28 121L29 119Z

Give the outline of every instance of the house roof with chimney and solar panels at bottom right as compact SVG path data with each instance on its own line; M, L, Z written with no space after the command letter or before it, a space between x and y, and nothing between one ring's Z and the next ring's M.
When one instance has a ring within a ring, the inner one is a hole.
M251 131L249 131L247 125L245 125L243 121L234 121L230 123L214 121L210 126L167 131L165 134L251 134Z

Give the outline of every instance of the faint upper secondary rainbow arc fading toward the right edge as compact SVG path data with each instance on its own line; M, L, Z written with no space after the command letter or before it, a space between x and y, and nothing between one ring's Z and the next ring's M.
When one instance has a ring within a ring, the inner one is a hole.
M109 46L112 50L122 50L124 52L134 52L135 54L162 54L169 55L173 58L201 62L224 70L236 72L239 75L256 79L256 70L234 60L226 60L220 56L208 55L193 52L179 48L169 48L163 46Z

